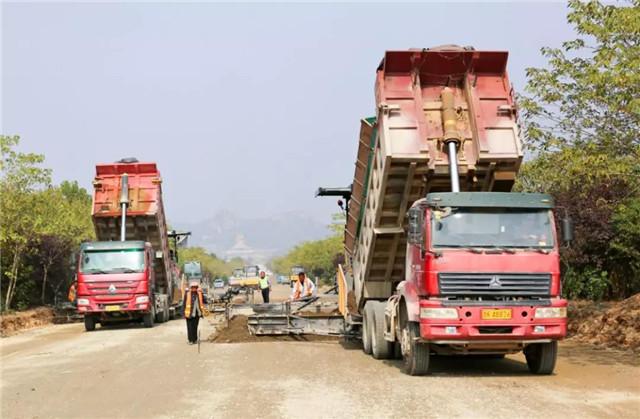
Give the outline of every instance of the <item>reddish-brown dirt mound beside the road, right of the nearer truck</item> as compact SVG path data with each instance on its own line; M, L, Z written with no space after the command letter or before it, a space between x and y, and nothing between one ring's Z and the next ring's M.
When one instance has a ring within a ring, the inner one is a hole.
M568 337L607 348L640 351L640 294L613 303L570 302Z

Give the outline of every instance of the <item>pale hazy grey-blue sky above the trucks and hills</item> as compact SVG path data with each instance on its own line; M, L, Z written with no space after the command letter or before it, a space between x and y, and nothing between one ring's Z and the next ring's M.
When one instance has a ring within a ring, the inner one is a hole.
M573 37L564 4L2 5L2 129L56 182L156 161L172 222L304 210L353 176L386 49L509 50L516 89Z

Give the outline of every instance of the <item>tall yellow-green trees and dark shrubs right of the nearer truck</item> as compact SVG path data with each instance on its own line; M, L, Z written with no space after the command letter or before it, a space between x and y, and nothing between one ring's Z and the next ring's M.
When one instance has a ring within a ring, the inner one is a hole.
M562 250L571 298L640 291L640 2L569 2L579 38L543 48L520 98L525 145L517 189L554 196L576 239Z

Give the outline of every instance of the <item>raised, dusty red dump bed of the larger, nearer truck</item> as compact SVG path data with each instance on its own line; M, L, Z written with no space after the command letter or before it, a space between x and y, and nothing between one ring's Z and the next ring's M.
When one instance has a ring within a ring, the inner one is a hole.
M358 306L388 298L404 279L407 210L452 189L446 143L456 144L461 191L511 190L522 149L507 55L460 47L385 54L377 115L361 121L345 232Z

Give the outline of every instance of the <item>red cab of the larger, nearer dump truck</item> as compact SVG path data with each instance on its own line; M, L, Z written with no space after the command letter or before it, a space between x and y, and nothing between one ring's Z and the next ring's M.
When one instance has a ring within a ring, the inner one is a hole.
M413 205L411 269L398 289L429 352L524 350L532 372L553 371L567 301L552 209L548 195L501 192L432 193Z

